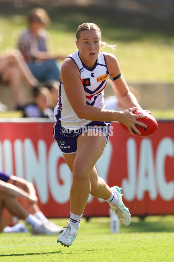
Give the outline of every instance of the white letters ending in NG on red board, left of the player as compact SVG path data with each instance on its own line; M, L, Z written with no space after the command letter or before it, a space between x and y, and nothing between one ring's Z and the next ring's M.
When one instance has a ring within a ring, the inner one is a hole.
M13 145L10 140L0 142L0 170L5 170L10 175L14 174L12 149ZM38 140L36 153L31 139L27 138L23 142L16 139L14 141L15 174L35 185L42 204L49 200L49 189L55 201L66 203L69 200L71 172L65 163L60 165L59 176L63 181L61 185L57 178L57 163L62 153L55 141L49 148L48 156L47 151L44 140Z

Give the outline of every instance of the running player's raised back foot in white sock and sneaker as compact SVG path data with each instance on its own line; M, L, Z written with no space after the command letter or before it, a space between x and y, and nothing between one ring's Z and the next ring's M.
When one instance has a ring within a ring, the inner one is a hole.
M117 215L119 221L124 225L128 226L131 223L131 214L129 212L129 209L125 207L123 201L122 201L122 196L123 194L121 193L122 188L121 187L111 187L115 193L117 194L118 197L118 203L116 206L111 206L112 210L115 212Z

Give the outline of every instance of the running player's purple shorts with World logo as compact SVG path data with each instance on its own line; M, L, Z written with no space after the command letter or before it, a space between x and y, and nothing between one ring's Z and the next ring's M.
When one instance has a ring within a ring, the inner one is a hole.
M88 125L78 128L76 126L62 127L59 123L54 125L54 139L64 154L73 154L77 151L77 138L80 134L91 130L89 135L97 135L98 132L103 134L106 138L106 144L110 135L110 122L90 122Z

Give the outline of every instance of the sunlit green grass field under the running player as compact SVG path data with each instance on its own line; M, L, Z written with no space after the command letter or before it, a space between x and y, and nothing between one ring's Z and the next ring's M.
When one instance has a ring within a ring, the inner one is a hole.
M69 219L53 219L65 226ZM81 220L78 236L69 248L57 236L1 233L0 261L32 262L173 262L174 216L132 217L128 227L110 233L108 217Z

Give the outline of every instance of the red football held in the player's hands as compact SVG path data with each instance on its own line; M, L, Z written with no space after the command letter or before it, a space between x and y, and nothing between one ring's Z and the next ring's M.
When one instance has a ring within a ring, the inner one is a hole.
M151 114L149 114L145 110L142 111L140 109L137 109L137 110L133 111L133 114L135 114L135 115L142 115L142 114L144 114L144 115L148 116L148 118L137 118L137 120L139 122L142 122L142 123L146 124L147 128L144 128L141 125L135 124L136 128L141 132L141 135L139 135L139 134L137 134L133 130L135 135L141 136L141 137L147 137L147 136L150 136L151 134L155 133L155 131L158 128L158 123L157 123L156 119ZM128 133L130 133L126 125L123 125L122 123L120 123L120 125L122 126L122 128L124 130L126 130Z

